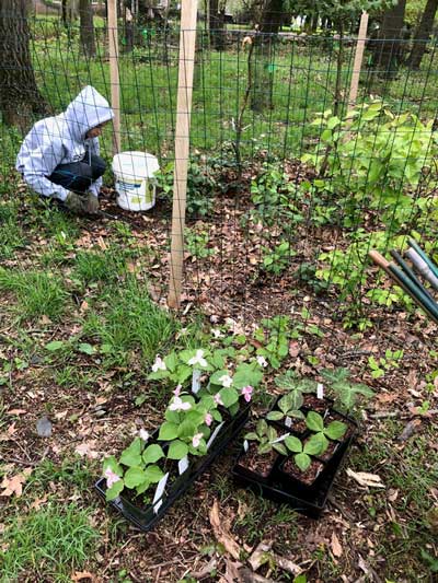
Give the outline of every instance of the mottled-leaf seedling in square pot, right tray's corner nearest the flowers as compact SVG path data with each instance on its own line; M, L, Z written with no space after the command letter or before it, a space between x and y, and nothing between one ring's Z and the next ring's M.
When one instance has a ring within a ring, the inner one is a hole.
M265 419L260 419L255 430L244 435L244 451L238 460L238 471L266 481L278 454L287 454L283 439L284 436L278 438L276 429Z

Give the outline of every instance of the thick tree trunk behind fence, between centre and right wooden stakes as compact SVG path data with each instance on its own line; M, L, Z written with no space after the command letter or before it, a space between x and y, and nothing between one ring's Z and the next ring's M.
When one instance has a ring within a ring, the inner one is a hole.
M273 108L274 51L283 22L283 0L267 0L262 12L260 34L254 37L253 92L251 108Z

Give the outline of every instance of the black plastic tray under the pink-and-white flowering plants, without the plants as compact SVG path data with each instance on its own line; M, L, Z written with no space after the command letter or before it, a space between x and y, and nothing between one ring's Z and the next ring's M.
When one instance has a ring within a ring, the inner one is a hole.
M242 405L235 417L229 420L219 432L217 439L211 445L209 453L203 457L195 458L187 470L177 478L177 483L172 488L169 495L162 498L162 504L157 512L153 511L152 504L147 508L139 508L126 497L119 495L114 500L106 501L106 479L100 478L94 488L113 509L124 516L128 522L137 526L140 530L147 533L168 512L168 510L184 494L215 460L215 458L227 447L227 445L241 432L250 415L250 405ZM184 477L186 479L184 480Z

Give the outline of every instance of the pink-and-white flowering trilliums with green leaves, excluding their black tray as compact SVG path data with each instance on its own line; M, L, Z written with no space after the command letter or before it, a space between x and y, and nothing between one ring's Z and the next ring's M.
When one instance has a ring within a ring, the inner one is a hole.
M216 428L251 401L263 377L256 359L235 360L227 350L200 348L157 355L148 378L171 387L164 420L153 438L142 429L119 459L105 458L107 500L125 489L148 498L168 473L183 471L177 463L185 468L193 456L207 453Z

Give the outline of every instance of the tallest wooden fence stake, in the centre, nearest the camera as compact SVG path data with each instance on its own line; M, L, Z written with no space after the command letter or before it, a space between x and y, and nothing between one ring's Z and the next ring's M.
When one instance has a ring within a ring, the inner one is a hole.
M178 90L176 101L175 171L173 177L171 273L169 307L181 305L184 259L184 226L187 195L193 71L195 65L197 0L181 7Z

